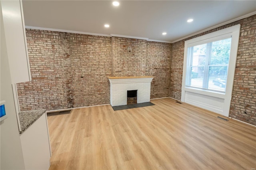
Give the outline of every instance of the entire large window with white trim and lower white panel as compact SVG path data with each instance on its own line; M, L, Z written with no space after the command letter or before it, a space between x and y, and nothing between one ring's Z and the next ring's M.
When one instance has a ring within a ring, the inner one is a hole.
M184 43L181 101L228 117L240 24Z

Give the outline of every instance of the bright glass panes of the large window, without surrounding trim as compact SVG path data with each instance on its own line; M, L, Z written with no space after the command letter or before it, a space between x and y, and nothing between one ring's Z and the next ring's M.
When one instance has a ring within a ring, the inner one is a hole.
M186 87L225 93L231 36L187 48Z

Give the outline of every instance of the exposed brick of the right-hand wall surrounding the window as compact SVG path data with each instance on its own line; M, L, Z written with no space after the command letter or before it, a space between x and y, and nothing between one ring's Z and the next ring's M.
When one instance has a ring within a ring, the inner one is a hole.
M241 24L230 117L256 125L256 15L192 36ZM181 99L184 41L172 44L170 97ZM244 114L246 111L247 114Z

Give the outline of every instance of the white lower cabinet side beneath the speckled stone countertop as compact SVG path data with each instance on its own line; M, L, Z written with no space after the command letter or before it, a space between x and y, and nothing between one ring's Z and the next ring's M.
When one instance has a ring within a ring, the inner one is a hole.
M50 142L46 113L20 134L26 170L48 170L50 168Z

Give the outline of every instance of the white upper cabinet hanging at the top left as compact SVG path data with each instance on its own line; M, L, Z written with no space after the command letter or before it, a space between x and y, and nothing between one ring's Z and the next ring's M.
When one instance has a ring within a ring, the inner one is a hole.
M12 84L31 81L21 0L1 0Z

